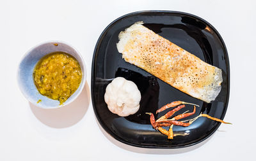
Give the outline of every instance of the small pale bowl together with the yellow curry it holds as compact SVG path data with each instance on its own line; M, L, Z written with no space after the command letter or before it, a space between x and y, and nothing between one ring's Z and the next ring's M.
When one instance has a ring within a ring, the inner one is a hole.
M24 96L41 108L58 108L74 101L85 80L83 57L60 41L42 43L29 50L17 73Z

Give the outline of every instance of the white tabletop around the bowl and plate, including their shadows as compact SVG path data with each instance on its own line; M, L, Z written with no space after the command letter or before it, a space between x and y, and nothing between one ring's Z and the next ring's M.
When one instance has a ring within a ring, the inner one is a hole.
M255 1L1 1L0 160L255 160ZM230 59L225 120L207 141L178 150L135 148L104 132L93 113L90 79L100 33L116 18L140 10L175 10L207 20L221 34ZM29 104L17 86L20 59L49 40L74 46L84 58L87 83L70 106L45 110Z

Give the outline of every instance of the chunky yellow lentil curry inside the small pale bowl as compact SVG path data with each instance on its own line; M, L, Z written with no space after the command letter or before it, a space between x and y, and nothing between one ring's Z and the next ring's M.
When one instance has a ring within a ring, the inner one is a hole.
M40 94L63 104L79 87L82 71L79 62L68 53L53 52L36 64L33 77Z

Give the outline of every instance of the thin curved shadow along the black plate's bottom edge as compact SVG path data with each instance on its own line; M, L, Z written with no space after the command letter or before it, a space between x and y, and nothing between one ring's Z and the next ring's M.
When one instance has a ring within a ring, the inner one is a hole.
M97 118L95 118L95 120L97 120ZM97 120L97 124L99 126L99 129L102 131L102 133L104 134L105 137L107 137L107 139L109 141L111 141L111 143L115 144L116 146L118 146L119 148L122 148L124 150L128 150L128 151L132 151L134 153L143 153L143 154L157 154L157 155L170 155L170 154L179 154L179 153L186 153L189 151L193 151L196 150L197 148L200 148L201 146L203 146L205 143L207 143L211 137L214 135L212 134L210 137L208 137L207 139L205 139L204 141L195 144L193 146L188 146L186 148L176 148L176 149L157 149L157 148L140 148L140 147L136 147L136 146L131 146L125 143L122 143L118 140L116 140L114 137L110 136L108 134L108 132L106 132L100 125L100 123Z

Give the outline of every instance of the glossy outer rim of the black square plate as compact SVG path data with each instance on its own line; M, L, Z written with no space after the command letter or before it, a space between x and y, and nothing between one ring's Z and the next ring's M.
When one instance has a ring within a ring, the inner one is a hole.
M94 78L94 69L95 69L95 54L97 51L97 48L99 47L99 43L101 42L102 38L104 38L104 34L106 33L106 31L108 31L108 29L110 29L110 27L112 25L114 25L116 22L118 22L119 20L122 20L122 18L126 18L126 17L130 17L130 16L135 16L135 15L140 15L140 14L145 14L145 13L175 13L175 14L179 14L179 15L186 15L189 17L194 17L198 20L201 20L202 22L204 22L205 24L209 25L212 28L212 31L214 31L216 33L216 36L220 39L221 41L221 45L223 45L223 49L224 49L224 54L226 56L225 62L227 63L227 99L226 99L226 106L225 109L220 117L221 120L223 120L223 118L225 117L225 114L227 112L227 108L228 108L228 101L229 101L229 95L230 95L230 64L229 64L229 59L228 59L228 52L227 52L227 48L226 45L223 41L223 39L221 38L220 33L206 20L204 20L201 17L198 17L196 15L193 15L191 13L186 13L186 12L182 12L182 11L169 11L169 10L141 10L141 11L134 11L131 13L127 13L121 17L116 18L115 20L113 20L105 29L104 31L102 31L102 33L100 34L97 43L95 45L95 48L93 50L93 59L92 59L92 71L91 71L91 99L92 99L92 106L93 106L93 112L97 118L97 122L100 123L100 126L102 127L102 129L105 130L105 132L107 132L111 137L113 137L114 139L116 139L117 141L120 141L121 143L127 144L129 146L135 146L138 148L152 148L152 149L178 149L178 148L186 148L189 146L193 146L195 144L198 143L202 143L203 141L205 141L207 138L211 137L216 130L220 127L221 123L218 122L218 124L214 127L214 129L212 130L211 133L209 133L207 136L205 136L204 138L200 139L199 141L196 141L195 143L191 143L191 144L187 144L184 146L145 146L145 145L141 145L141 144L135 144L135 143L131 143L130 141L125 141L125 139L123 139L122 137L116 136L116 134L114 134L113 132L111 132L111 130L108 129L108 127L106 127L104 125L104 123L102 122L102 120L100 119L99 115L97 114L97 109L95 108L95 101L94 101L94 91L93 91L93 85L95 85L95 78Z

